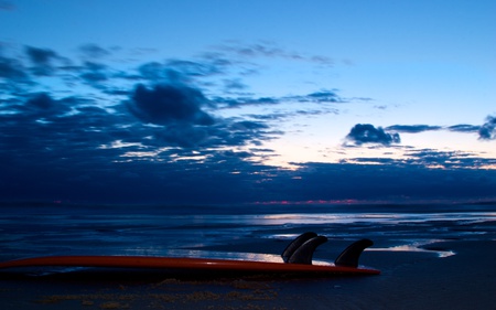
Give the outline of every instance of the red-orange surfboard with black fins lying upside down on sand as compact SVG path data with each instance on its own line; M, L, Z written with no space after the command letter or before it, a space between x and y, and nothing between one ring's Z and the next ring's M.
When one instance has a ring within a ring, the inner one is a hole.
M362 239L349 245L334 264L313 264L315 248L325 243L325 236L308 232L288 245L281 254L281 263L192 257L155 256L45 256L0 263L0 269L19 267L109 267L158 268L176 270L238 271L254 274L304 274L304 275L378 275L379 270L358 266L362 252L373 244Z

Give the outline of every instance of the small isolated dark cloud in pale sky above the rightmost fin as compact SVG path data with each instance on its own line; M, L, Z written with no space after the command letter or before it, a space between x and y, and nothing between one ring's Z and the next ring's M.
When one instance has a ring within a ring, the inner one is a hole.
M346 139L356 145L379 143L390 146L391 143L400 142L400 136L398 133L388 133L381 127L376 128L370 124L355 125L346 136Z

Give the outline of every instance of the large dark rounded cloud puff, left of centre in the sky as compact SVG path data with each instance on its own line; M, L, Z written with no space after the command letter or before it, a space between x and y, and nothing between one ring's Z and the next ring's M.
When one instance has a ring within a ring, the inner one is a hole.
M202 92L183 85L157 85L149 89L139 84L131 95L128 107L144 122L208 126L214 124L214 118L202 110L206 100Z

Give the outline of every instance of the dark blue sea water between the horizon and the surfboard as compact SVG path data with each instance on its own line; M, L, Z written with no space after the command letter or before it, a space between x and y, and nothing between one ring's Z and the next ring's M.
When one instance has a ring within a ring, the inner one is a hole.
M122 206L2 205L0 260L51 255L147 255L277 261L285 244L313 231L343 247L451 250L427 245L490 233L495 205ZM274 246L276 245L276 246ZM317 254L316 254L317 255Z

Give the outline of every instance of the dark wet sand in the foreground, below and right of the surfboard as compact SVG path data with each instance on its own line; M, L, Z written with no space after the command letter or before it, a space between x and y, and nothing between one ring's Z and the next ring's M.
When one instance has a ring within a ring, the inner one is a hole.
M152 271L3 277L2 309L496 309L496 242L432 245L456 255L366 252L380 276L213 277Z

